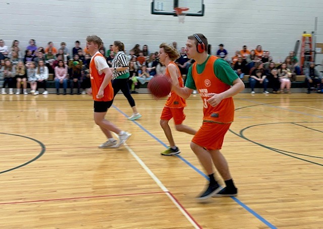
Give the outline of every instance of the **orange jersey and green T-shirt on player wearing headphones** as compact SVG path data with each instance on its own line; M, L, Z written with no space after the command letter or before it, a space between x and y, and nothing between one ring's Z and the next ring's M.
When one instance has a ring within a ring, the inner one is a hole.
M203 101L203 121L231 123L234 119L233 98L224 99L216 107L212 107L207 100L213 94L227 91L238 79L238 75L228 62L216 56L208 56L202 64L196 62L189 68L186 84L187 88L198 90Z

